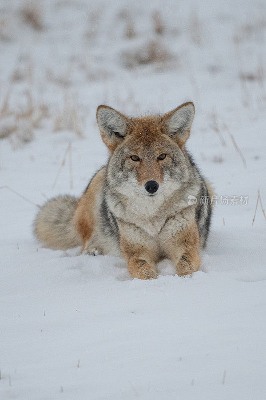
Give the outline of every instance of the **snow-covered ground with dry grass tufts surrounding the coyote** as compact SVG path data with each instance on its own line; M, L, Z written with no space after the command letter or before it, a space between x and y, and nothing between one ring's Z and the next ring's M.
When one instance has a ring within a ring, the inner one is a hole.
M1 1L1 400L266 398L264 5ZM218 196L201 270L132 280L123 259L41 248L34 203L106 162L97 105L188 100Z

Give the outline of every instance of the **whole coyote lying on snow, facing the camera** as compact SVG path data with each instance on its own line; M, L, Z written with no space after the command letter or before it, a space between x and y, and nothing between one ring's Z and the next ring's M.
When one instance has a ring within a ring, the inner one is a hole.
M37 239L52 249L81 245L83 254L122 255L133 278L156 278L163 258L179 276L197 271L212 189L185 148L193 118L192 102L137 118L100 105L107 165L80 198L58 196L42 206L34 221Z

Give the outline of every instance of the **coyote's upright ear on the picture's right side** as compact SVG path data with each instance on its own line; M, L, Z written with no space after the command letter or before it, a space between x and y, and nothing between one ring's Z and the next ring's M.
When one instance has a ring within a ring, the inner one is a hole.
M167 112L161 122L163 132L182 147L188 140L194 118L194 104L190 101Z

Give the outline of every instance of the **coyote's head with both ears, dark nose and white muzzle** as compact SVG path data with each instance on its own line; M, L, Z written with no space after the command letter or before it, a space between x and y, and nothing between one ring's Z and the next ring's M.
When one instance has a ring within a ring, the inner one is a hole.
M127 197L167 197L189 177L184 144L194 117L193 103L164 116L128 118L100 105L97 121L111 151L108 181Z

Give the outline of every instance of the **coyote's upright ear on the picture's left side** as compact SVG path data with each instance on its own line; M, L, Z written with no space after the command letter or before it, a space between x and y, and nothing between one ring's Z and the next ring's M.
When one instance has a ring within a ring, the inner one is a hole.
M108 105L97 108L97 122L103 142L110 151L114 151L127 135L132 122L125 115Z

